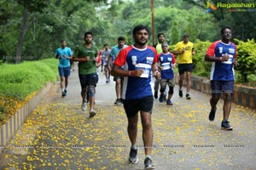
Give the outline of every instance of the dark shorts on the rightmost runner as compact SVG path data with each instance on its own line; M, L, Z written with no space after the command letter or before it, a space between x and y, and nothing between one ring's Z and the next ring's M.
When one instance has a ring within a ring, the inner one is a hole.
M212 94L233 94L234 93L234 81L211 81Z

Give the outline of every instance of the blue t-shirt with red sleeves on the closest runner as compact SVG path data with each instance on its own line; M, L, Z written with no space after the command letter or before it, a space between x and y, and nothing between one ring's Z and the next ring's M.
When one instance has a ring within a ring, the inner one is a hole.
M115 65L125 65L126 71L143 69L141 77L124 77L123 99L142 99L152 95L151 70L156 62L156 50L150 46L144 49L129 46L119 52L114 61Z

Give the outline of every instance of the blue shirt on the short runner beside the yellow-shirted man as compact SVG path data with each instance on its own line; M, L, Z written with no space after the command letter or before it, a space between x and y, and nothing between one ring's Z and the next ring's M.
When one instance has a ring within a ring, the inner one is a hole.
M158 59L160 62L160 66L163 68L163 70L161 70L161 78L165 79L165 80L174 78L174 74L173 74L173 70L172 70L172 64L176 63L174 54L160 53L158 55Z

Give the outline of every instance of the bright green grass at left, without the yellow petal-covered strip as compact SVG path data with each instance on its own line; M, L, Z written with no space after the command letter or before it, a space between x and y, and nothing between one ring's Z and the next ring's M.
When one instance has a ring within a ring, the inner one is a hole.
M43 59L19 65L0 65L0 95L25 99L27 95L43 88L46 82L55 82L57 63L57 59Z

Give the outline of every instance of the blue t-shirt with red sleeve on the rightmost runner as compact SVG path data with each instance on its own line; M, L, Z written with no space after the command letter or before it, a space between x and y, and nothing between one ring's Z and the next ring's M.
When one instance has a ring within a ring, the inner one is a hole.
M229 55L228 61L212 62L211 80L234 81L234 61L236 59L236 45L232 42L226 44L221 41L213 42L207 50L207 55L211 57L221 57L223 54Z

